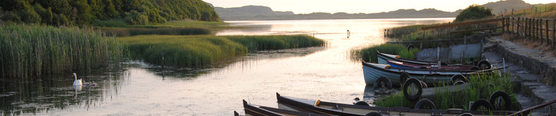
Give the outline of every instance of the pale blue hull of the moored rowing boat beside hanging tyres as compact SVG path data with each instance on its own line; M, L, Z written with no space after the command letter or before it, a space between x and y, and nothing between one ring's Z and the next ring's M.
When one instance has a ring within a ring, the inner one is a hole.
M400 85L400 74L407 72L409 78L417 78L424 81L427 85L435 85L439 83L451 83L452 76L455 74L468 75L471 70L445 70L445 69L414 69L414 68L398 68L390 65L364 63L363 77L367 85L373 85L377 78L384 76L391 80L392 85Z

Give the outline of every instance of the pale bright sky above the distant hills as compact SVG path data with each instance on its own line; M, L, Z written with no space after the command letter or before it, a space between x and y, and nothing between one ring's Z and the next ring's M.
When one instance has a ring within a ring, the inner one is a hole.
M435 8L453 12L472 4L485 4L500 0L202 0L215 7L268 6L275 11L308 13L381 13L398 9ZM526 3L554 3L553 0L523 0Z

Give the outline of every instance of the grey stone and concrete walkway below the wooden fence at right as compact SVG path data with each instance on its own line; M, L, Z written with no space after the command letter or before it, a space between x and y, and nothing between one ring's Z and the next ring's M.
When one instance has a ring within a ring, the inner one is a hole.
M556 57L547 56L542 51L527 49L518 44L502 40L498 37L489 39L495 43L491 49L485 50L484 57L495 67L502 67L505 59L506 72L515 76L514 93L522 108L530 108L540 103L556 99ZM502 69L500 69L502 70ZM556 115L556 104L534 110L534 114L552 113Z

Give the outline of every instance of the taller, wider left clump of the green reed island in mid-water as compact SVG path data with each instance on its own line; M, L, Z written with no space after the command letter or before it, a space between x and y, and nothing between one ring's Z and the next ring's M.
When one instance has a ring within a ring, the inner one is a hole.
M138 35L117 40L126 44L131 58L155 65L202 66L247 53L247 47L211 35Z

